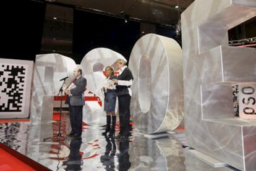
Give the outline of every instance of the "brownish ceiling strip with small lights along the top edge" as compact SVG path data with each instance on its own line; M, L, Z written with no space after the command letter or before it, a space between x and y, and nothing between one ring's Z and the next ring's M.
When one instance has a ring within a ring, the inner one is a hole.
M194 0L46 0L116 17L175 25L181 12Z

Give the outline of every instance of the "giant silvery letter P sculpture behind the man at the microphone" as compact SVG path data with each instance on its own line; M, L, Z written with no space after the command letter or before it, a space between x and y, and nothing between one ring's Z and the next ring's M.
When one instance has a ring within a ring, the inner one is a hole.
M76 64L73 59L60 54L36 56L32 87L30 122L49 122L53 116L53 99L61 88L61 78L73 78Z

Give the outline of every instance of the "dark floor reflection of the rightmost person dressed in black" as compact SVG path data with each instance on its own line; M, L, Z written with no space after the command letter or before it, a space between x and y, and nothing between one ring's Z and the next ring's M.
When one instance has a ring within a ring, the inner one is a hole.
M130 168L129 161L129 138L125 138L123 141L119 142L119 151L120 153L117 155L119 162L119 171L126 171Z

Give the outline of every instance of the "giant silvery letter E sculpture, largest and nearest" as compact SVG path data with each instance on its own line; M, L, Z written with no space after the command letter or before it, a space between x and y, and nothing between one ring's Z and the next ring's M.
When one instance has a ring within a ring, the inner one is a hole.
M228 46L228 30L254 17L255 7L255 0L195 0L181 15L187 142L240 170L256 169L256 122L234 119L232 85L256 81L256 50Z

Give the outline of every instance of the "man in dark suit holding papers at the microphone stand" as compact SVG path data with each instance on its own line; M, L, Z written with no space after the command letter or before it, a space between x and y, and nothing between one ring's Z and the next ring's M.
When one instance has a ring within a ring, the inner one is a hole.
M68 95L66 104L69 104L69 117L71 132L67 136L80 137L82 135L83 105L85 104L83 93L87 80L82 77L82 69L74 70L74 80L65 91Z

